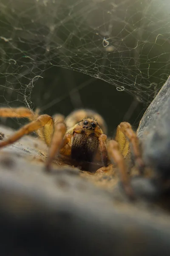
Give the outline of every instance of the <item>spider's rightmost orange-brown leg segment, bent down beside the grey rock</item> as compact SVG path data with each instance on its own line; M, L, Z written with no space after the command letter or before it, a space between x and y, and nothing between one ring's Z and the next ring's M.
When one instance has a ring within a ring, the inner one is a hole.
M118 129L120 129L122 133L125 134L126 138L129 140L129 143L131 143L135 162L137 163L139 172L143 174L144 163L142 161L142 155L139 148L139 139L137 135L132 130L132 127L128 122L120 123L120 125L118 126Z

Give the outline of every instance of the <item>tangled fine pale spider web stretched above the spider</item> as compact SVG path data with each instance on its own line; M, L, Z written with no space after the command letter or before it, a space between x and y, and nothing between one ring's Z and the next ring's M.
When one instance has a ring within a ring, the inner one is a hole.
M45 78L51 68L101 79L148 104L170 74L169 10L169 0L1 0L1 105L34 108L34 87L49 102L49 91L60 90Z

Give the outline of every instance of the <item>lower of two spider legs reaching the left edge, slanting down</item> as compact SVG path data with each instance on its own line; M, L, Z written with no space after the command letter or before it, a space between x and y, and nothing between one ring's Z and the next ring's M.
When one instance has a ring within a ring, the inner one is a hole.
M28 123L27 125L24 125L22 128L20 128L20 130L16 131L13 135L11 135L11 137L9 137L7 140L3 140L2 142L0 142L0 148L14 143L24 135L36 131L37 129L40 129L45 125L54 125L54 121L51 116L41 115L36 120Z

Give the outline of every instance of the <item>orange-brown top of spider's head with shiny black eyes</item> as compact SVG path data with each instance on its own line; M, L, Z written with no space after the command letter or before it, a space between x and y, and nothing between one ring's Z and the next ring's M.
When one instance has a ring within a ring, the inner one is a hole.
M87 136L99 137L102 134L98 122L93 118L84 118L74 127L74 133L86 134Z

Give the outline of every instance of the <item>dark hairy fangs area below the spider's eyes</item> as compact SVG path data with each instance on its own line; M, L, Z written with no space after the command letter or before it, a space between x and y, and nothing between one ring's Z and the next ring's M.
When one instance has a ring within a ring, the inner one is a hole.
M77 161L92 162L98 149L98 138L92 134L75 133L71 145L71 158Z

